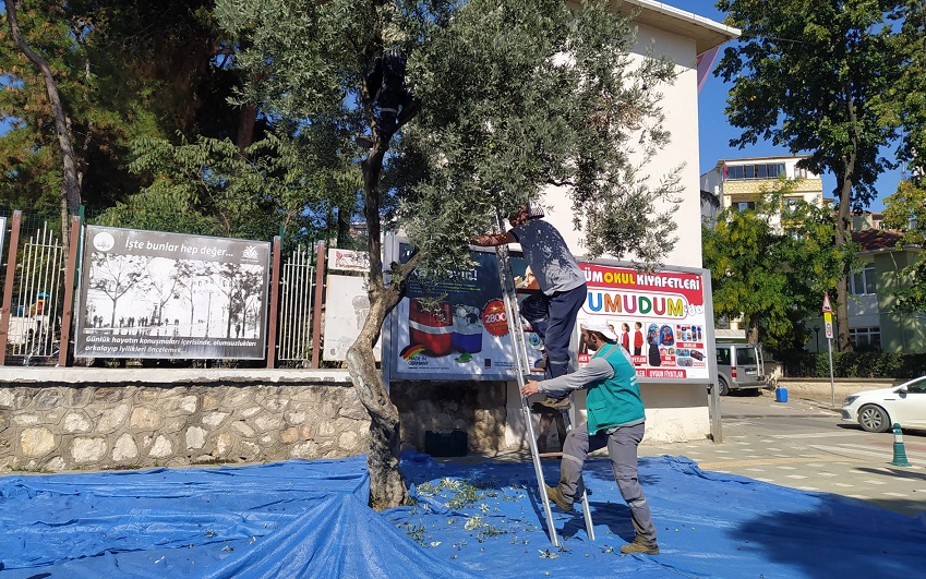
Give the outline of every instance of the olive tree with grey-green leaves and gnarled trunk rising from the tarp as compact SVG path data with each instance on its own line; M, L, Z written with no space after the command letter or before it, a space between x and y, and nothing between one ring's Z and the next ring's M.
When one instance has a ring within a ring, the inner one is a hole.
M634 61L630 22L599 2L219 0L216 14L249 38L238 63L261 81L242 101L302 126L339 128L336 150L361 177L370 314L347 363L371 417L371 505L401 504L399 415L373 346L406 280L469 263L467 241L496 212L550 185L572 198L589 252L620 255L635 240L636 257L662 256L673 220L654 207L677 179L652 184L639 164L669 138L659 86L673 63ZM389 224L416 253L389 264L387 279Z

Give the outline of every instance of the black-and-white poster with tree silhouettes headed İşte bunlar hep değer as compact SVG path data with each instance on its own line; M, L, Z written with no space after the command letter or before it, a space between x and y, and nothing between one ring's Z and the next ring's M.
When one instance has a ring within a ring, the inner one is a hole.
M270 244L87 226L74 355L260 360Z

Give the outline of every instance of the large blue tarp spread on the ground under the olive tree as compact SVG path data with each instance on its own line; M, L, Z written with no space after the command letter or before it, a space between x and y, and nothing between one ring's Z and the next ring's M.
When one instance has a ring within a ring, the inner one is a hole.
M624 556L629 512L606 460L552 548L530 463L406 455L418 504L366 505L363 457L260 467L0 478L0 579L117 577L919 577L926 517L640 459L661 554ZM544 463L546 479L558 465Z

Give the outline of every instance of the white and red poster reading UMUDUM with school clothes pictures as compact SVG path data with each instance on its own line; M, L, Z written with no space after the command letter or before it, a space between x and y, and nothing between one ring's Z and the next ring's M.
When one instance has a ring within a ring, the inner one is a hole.
M709 281L701 270L649 273L594 263L579 266L588 282L579 323L600 318L609 324L617 342L630 352L641 382L711 381L708 355L713 313L706 301ZM578 362L584 365L591 354L579 342Z

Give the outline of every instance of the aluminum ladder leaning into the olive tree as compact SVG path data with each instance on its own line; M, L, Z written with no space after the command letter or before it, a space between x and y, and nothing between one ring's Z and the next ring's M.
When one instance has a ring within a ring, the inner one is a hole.
M500 219L500 226L501 219ZM498 275L502 281L502 294L505 303L505 317L508 322L508 334L512 336L512 348L515 354L515 363L517 364L517 381L518 393L531 375L531 363L527 355L527 342L525 341L524 324L521 323L520 306L518 305L517 288L515 287L514 274L512 273L512 261L507 245L496 245L495 256L498 261ZM553 546L562 546L560 538L556 534L556 528L553 524L553 510L550 508L550 499L546 497L545 481L543 479L543 469L540 465L541 458L562 457L563 453L544 453L540 454L537 446L537 435L533 430L532 412L527 401L527 396L521 396L521 411L524 412L525 424L527 424L528 442L530 443L530 455L533 459L533 470L537 474L538 492L540 499L543 502L543 514L546 518L546 530L550 534L550 542ZM566 424L566 432L572 430L568 411L563 411L563 420ZM591 520L591 510L588 504L588 493L586 493L585 481L579 479L579 488L581 491L582 514L585 516L586 532L589 539L594 541L594 527Z

